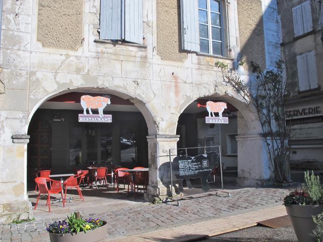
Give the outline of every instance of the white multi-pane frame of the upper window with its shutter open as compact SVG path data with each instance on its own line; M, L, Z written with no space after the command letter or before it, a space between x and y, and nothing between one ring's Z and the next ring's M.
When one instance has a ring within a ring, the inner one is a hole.
M199 39L208 40L208 50L209 50L209 52L205 53L205 52L200 51L200 53L201 54L210 54L210 55L214 55L214 56L225 56L225 46L224 46L224 43L225 43L224 35L225 35L225 33L224 33L224 21L223 21L224 18L223 18L223 6L222 6L223 3L222 3L221 0L214 0L214 1L218 2L219 6L220 6L220 13L218 13L218 12L211 11L210 1L212 1L212 0L206 0L207 9L198 8L198 10L203 10L203 11L207 12L207 24L200 23L198 21L198 25L202 24L202 25L207 25L207 27L208 27L208 39L202 38L202 37L199 37ZM211 25L211 13L220 14L220 27ZM216 28L221 29L221 41L212 40L212 27L216 27ZM221 43L222 55L213 54L212 41Z

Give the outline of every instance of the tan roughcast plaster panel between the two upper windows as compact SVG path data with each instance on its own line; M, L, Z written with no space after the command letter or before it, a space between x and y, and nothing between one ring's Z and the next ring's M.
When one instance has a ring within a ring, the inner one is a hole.
M157 0L157 54L166 61L183 62L180 0Z

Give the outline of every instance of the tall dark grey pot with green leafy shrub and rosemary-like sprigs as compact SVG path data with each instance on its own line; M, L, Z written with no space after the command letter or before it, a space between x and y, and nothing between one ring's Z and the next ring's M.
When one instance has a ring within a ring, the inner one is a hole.
M297 240L314 241L311 234L315 228L312 216L323 212L323 187L313 171L305 172L305 183L284 198L287 214L290 216Z

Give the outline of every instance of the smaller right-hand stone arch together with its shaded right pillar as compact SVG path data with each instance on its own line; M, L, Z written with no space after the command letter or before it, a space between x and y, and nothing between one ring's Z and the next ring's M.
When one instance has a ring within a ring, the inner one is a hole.
M232 104L239 110L238 114L238 179L237 183L244 186L263 185L273 176L262 129L256 108L247 103L238 93L228 94L226 88L220 92L208 92L205 95L191 96L182 103L179 115L195 100L219 99ZM240 124L239 124L240 123ZM240 127L239 127L240 126ZM250 147L253 147L250 149Z

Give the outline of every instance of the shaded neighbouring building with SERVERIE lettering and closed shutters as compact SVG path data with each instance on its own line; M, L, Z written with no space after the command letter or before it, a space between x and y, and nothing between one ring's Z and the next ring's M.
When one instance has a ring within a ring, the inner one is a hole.
M290 97L291 168L322 168L323 7L315 1L278 1L282 56ZM292 31L293 30L293 31Z

